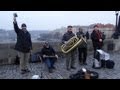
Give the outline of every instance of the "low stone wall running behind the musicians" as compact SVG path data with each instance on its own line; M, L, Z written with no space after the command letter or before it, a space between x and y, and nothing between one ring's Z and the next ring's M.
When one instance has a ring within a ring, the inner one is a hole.
M111 50L110 50L110 48L108 50L108 45L110 43L115 44L113 50L112 50L112 48L111 48ZM59 54L59 56L64 55L60 49L60 42L51 42L50 44L53 46L53 48L56 50L56 52ZM43 45L43 42L33 43L32 53L40 51L42 48L42 45ZM0 65L14 63L14 58L17 55L17 52L14 50L14 46L15 46L15 43L0 44ZM107 39L107 40L105 40L103 50L106 52L119 51L120 50L120 39L117 39L117 40ZM92 42L91 42L91 40L88 40L88 54L92 53L92 52L93 52Z

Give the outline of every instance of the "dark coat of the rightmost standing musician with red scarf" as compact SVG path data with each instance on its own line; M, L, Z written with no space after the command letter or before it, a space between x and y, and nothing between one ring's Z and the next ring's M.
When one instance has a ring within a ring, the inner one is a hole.
M101 37L98 37L98 34L96 33L95 30L93 30L93 32L91 33L91 39L92 39L93 47L97 48L97 49L101 49L102 46L103 46L103 42L99 42L99 39L102 39L102 34L101 34L100 31L99 31L99 34L100 34Z

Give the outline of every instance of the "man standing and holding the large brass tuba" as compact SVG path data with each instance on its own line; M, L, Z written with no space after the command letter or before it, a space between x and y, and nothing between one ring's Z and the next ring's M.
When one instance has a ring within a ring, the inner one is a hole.
M65 44L67 41L69 41L72 37L75 36L75 34L72 32L72 30L73 30L72 26L67 27L67 32L63 35L62 43ZM67 67L68 71L70 69L76 69L76 67L75 67L75 51L76 50L72 50L71 52L66 54L66 67Z

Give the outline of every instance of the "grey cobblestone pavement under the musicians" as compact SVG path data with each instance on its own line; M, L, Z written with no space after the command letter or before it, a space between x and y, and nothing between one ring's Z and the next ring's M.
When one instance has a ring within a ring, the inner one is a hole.
M35 74L41 76L42 72L42 78L43 79L68 79L69 75L72 73L76 73L78 70L80 70L82 67L85 67L89 70L96 71L99 73L99 79L120 79L120 53L110 53L111 60L115 61L115 67L114 69L93 69L92 68L92 55L89 55L87 57L87 66L81 66L78 63L76 63L77 69L67 71L65 67L65 60L60 59L56 62L56 70L54 73L48 73L47 67L45 64L41 63L31 63L30 64L30 73L26 73L24 75L20 74L19 71L19 65L3 65L0 66L0 79L31 79L31 77Z

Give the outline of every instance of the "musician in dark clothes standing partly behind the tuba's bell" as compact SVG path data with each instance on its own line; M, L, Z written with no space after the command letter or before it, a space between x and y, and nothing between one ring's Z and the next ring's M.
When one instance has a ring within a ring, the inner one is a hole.
M86 40L86 35L83 33L83 29L79 28L79 31L76 33L77 37L81 39L81 37ZM78 47L78 58L79 58L79 63L83 65L87 65L86 59L87 59L87 45L79 46Z

